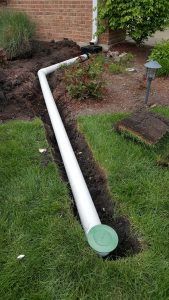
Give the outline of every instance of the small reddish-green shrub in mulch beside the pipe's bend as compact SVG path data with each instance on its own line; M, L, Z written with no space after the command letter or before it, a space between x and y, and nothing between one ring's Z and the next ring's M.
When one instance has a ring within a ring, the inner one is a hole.
M69 95L79 100L101 98L104 87L102 72L103 60L100 56L66 69L65 81Z

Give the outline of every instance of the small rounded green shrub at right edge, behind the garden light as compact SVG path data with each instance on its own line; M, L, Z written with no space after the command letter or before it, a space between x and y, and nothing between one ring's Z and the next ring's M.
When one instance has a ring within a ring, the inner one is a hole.
M158 76L169 76L169 40L156 44L149 58L158 61L162 66L157 71Z

